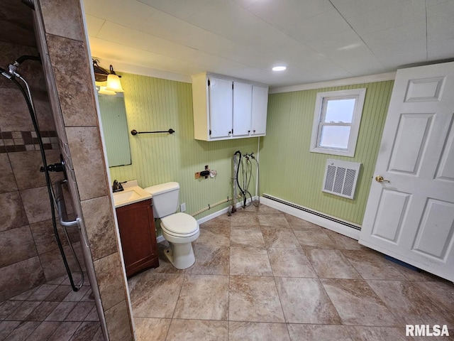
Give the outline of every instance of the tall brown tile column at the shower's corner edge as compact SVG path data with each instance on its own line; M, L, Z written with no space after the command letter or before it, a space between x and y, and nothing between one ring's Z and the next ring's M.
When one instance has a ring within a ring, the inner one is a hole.
M133 340L81 1L36 1L43 66L60 144L72 168L68 178L74 209L87 232L109 339Z

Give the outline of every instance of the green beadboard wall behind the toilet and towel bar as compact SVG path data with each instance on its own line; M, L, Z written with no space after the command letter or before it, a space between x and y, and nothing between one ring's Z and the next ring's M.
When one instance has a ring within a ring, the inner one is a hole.
M175 134L129 134L131 165L110 168L112 180L138 180L145 188L158 183L177 181L179 202L186 202L192 214L208 205L232 197L232 157L257 153L258 138L230 141L196 141L192 118L192 85L131 74L122 74L128 130L155 131L174 129ZM218 172L216 178L198 179L194 173L204 166ZM255 173L250 184L255 193ZM227 207L218 205L196 219Z

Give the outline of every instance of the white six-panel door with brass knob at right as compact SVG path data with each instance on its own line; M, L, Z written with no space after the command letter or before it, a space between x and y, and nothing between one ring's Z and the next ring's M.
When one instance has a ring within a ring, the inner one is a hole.
M454 63L398 70L360 244L454 281Z

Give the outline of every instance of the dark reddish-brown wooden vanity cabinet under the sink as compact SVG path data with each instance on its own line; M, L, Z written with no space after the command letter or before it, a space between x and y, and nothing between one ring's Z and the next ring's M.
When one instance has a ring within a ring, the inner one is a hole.
M157 242L151 199L116 208L126 276L157 268Z

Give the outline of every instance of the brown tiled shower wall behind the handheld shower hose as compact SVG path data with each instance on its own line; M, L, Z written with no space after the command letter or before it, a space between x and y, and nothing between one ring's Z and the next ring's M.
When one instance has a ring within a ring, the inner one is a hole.
M0 67L6 69L21 55L38 55L38 51L30 46L0 42ZM31 86L48 163L59 162L43 69L40 63L28 60L18 72ZM48 190L44 173L39 171L43 162L31 117L21 92L4 77L0 78L0 131L1 302L66 271L53 234ZM52 180L61 176L52 175ZM59 230L63 236L61 227ZM77 231L68 232L83 264ZM74 269L65 237L62 242Z

